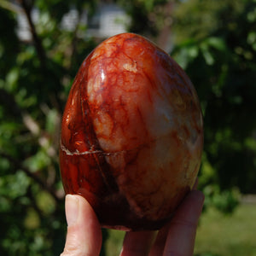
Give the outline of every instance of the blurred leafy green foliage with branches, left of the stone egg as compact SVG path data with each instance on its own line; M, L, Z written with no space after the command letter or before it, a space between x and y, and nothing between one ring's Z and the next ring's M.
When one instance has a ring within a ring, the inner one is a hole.
M0 254L58 255L64 247L64 193L58 166L61 113L84 57L96 46L86 27L62 29L72 7L95 1L1 1ZM38 22L32 9L40 10ZM32 40L17 37L18 14ZM81 15L81 12L79 13Z

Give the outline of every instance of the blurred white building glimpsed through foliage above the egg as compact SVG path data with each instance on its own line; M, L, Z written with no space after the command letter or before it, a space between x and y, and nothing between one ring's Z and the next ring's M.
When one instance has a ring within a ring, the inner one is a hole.
M41 18L38 9L32 9L32 20L34 24L41 22ZM108 38L115 34L126 32L126 27L129 25L130 19L125 14L125 11L117 4L99 3L96 13L91 17L88 15L86 9L84 9L80 17L77 9L70 9L63 16L61 29L72 32L75 30L78 22L87 27L86 35L80 34L80 37ZM22 11L18 12L17 34L22 41L32 40L26 15Z

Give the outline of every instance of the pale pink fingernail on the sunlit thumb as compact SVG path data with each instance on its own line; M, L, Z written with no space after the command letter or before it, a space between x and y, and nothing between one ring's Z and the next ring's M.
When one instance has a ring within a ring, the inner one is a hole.
M79 199L75 195L66 195L67 225L73 225L79 216Z

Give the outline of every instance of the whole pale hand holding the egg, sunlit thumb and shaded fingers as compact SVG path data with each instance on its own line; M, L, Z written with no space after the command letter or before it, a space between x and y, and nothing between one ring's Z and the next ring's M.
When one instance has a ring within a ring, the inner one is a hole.
M193 189L172 220L159 231L126 232L120 256L192 256L204 195ZM101 252L102 227L88 201L66 196L67 240L61 256L96 256Z

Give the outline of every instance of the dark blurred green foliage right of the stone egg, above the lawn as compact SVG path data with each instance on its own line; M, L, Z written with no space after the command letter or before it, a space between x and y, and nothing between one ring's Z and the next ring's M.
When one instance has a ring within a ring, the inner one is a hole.
M207 202L232 212L239 190L256 192L256 1L190 0L176 11L172 56L204 114L200 186Z

